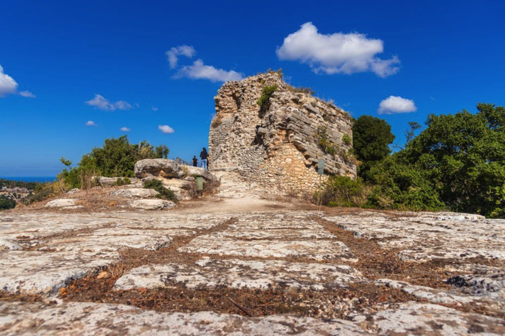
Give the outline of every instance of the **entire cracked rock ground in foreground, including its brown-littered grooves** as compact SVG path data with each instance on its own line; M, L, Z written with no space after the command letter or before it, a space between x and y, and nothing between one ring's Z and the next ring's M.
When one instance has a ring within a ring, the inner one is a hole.
M505 333L505 221L255 202L1 214L0 334Z

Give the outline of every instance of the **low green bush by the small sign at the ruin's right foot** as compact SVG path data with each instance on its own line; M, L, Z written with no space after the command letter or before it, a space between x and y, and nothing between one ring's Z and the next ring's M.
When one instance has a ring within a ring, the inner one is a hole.
M360 178L330 176L321 194L323 205L330 207L361 207L367 200L369 187Z

